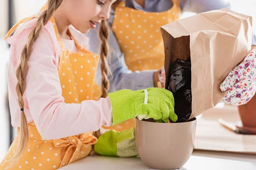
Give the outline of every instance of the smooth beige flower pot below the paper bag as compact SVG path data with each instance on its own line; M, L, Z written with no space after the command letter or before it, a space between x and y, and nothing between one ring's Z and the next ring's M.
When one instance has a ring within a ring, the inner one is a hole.
M156 123L135 119L136 144L144 164L153 169L183 167L194 149L196 119Z

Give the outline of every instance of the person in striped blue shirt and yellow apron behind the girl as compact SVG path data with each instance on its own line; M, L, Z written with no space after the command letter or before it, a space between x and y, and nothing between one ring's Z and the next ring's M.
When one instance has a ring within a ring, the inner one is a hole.
M112 73L108 77L110 92L156 87L158 81L161 81L163 85L164 69L160 74L157 71L164 63L160 26L178 20L183 11L201 13L230 8L230 3L226 0L120 0L117 3L116 8L111 10L109 27L105 26L105 30L96 28L85 34L90 39L90 51L98 53L100 40L95 35L111 28L108 41L113 49L108 60ZM255 35L252 45L256 45ZM98 84L100 84L100 77L97 74ZM94 90L93 99L97 99L100 91ZM224 102L232 104L227 101L224 99ZM122 131L133 127L134 120L132 119L117 126L103 128Z

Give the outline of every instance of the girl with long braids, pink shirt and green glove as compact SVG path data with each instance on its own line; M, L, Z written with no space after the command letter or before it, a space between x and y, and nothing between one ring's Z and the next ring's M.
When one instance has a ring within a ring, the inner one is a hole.
M90 100L99 56L79 45L69 26L87 33L108 19L112 4L113 0L49 0L40 15L21 20L6 35L11 44L10 112L18 128L1 170L63 167L92 152L97 142L93 131L138 114L157 122L177 120L172 93L161 88L122 90ZM102 96L108 86L105 43L102 39Z

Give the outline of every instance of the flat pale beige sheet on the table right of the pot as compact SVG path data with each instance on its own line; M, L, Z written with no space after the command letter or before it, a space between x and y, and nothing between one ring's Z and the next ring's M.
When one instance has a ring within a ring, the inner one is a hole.
M256 135L240 135L221 126L218 119L236 123L240 120L236 106L213 108L198 117L195 150L214 150L256 154Z

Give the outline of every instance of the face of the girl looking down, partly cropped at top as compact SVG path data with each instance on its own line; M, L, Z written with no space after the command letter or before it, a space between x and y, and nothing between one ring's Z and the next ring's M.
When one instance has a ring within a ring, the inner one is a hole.
M63 0L67 22L85 34L96 27L94 23L107 20L115 0Z

